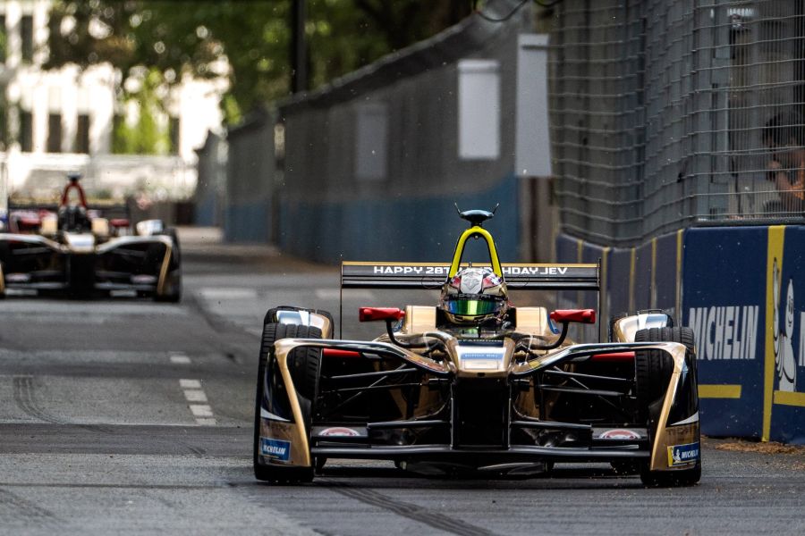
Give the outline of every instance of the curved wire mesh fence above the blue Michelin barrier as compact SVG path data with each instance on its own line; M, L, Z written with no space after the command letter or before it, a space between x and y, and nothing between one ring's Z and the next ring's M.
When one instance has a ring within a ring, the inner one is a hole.
M805 175L803 11L791 0L557 4L563 231L633 245L694 224L801 220L801 194L784 188Z

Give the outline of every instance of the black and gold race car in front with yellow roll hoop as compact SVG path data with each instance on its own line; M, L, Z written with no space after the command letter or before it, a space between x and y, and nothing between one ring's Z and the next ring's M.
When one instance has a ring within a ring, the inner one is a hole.
M393 460L419 473L528 476L555 463L610 464L646 485L701 474L693 333L661 312L615 318L609 341L577 344L594 309L515 307L508 289L591 290L599 264L501 264L470 222L450 264L342 265L343 289L438 289L438 306L360 307L377 339L334 339L326 311L264 320L255 404L258 480L309 482L328 458ZM468 239L488 264L462 264Z

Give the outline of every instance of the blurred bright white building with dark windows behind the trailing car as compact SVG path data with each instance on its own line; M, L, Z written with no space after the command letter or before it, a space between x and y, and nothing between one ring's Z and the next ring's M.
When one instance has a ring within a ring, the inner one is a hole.
M169 90L154 88L169 91L167 105L144 110L121 102L121 73L109 63L46 69L53 4L0 3L0 173L12 201L54 197L68 171L81 172L100 198L190 197L197 177L194 149L208 130L220 130L221 84L188 78ZM147 72L142 79L148 84ZM142 130L145 113L153 125L151 142L127 147L126 137Z

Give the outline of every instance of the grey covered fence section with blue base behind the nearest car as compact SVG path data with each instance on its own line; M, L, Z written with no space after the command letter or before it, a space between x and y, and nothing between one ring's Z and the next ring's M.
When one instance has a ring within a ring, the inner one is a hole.
M500 16L517 4L496 0L485 9ZM524 28L527 11L505 23L470 17L282 103L277 244L328 263L441 259L464 227L454 202L462 210L500 203L489 227L506 230L498 247L516 259L515 74ZM462 113L466 102L471 109ZM479 127L462 130L465 120Z

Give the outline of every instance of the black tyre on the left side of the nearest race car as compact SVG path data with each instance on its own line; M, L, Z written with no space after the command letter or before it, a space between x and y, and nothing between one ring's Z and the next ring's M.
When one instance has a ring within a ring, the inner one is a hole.
M311 326L280 324L269 322L263 326L260 341L257 393L254 410L253 465L254 476L267 482L311 482L314 467L284 467L260 463L260 409L266 388L266 365L271 348L278 339L321 339L321 331ZM313 415L313 401L318 390L318 374L321 370L321 351L318 348L298 348L288 356L288 370L293 385L299 395L301 423L310 438L310 423ZM314 461L315 465L315 461Z

